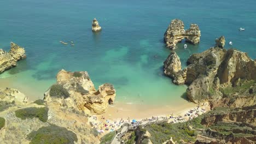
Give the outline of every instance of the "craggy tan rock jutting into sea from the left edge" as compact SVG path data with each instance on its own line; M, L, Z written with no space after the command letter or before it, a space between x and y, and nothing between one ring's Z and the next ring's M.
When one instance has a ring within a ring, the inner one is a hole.
M9 52L0 49L0 74L5 70L15 67L17 65L16 62L24 58L26 58L24 48L12 42L10 43Z

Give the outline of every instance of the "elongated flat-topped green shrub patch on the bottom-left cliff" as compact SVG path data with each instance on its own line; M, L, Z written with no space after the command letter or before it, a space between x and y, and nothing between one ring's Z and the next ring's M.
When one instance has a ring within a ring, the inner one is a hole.
M27 107L24 109L19 109L15 111L16 117L21 119L26 118L38 118L42 122L47 122L48 120L48 107Z

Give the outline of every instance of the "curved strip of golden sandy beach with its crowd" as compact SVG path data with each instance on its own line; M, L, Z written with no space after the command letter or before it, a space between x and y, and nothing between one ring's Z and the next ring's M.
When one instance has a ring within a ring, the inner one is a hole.
M132 123L136 120L137 123L147 123L147 121L161 121L161 119L168 119L168 123L180 123L189 121L202 113L210 111L210 105L208 103L203 103L201 105L189 106L182 105L181 107L176 107L176 109L162 109L161 107L156 107L153 110L147 111L122 111L110 107L108 112L102 115L92 115L89 117L89 123L91 123L92 128L97 129L101 133L101 136L109 133L110 131L117 130L121 128L124 123ZM181 110L178 110L181 109ZM111 113L113 112L113 113ZM119 117L118 117L119 116Z

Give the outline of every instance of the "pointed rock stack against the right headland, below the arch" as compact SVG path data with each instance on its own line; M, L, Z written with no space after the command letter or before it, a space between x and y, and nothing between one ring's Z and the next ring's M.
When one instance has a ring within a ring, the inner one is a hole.
M181 61L176 52L171 52L164 62L164 73L171 77L176 85L184 84L186 71L182 70Z

